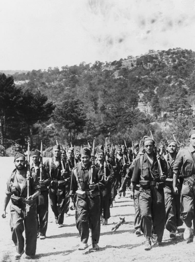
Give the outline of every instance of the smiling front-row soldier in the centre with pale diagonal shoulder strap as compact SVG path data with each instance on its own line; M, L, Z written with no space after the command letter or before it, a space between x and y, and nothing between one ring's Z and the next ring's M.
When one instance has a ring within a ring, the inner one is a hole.
M71 173L70 205L73 209L73 195L77 194L76 227L81 236L79 250L88 247L89 228L91 228L92 248L99 249L100 236L100 193L104 188L104 176L98 166L93 167L93 183L91 184L91 150L81 149L81 162L77 163Z

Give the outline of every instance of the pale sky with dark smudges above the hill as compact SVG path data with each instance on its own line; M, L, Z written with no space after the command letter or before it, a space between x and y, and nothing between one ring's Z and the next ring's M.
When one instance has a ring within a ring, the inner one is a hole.
M195 0L2 0L0 70L195 51Z

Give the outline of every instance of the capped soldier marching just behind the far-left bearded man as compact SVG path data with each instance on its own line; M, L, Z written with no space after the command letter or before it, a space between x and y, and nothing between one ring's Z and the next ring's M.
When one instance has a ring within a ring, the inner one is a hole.
M37 222L38 222L38 237L40 239L45 239L47 227L48 227L48 187L51 182L49 171L43 168L44 166L40 165L39 158L40 158L41 152L37 149L31 150L31 157L33 159L33 163L31 164L30 170L32 171L34 168L34 172L36 173L39 184L41 186L41 193L39 197L37 198ZM42 178L40 181L40 169L42 168Z

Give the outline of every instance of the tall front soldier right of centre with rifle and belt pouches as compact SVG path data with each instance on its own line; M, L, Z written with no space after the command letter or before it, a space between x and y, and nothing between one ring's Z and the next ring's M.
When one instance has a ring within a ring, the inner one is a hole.
M166 161L160 159L162 175L160 175L156 154L154 152L154 140L144 136L143 145L145 154L135 160L135 167L131 178L132 197L134 197L135 187L139 188L139 210L140 228L146 238L144 249L158 246L162 241L165 227L165 201L164 191L165 179L167 177Z

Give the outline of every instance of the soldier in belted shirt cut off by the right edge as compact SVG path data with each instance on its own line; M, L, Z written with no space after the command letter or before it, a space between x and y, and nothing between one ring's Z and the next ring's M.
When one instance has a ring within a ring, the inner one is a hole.
M177 153L173 165L173 192L179 194L178 176L181 172L183 184L181 189L181 218L186 225L183 233L184 239L191 236L192 220L194 220L194 198L195 198L195 127L189 132L190 145L182 148ZM195 230L193 243L195 243Z

